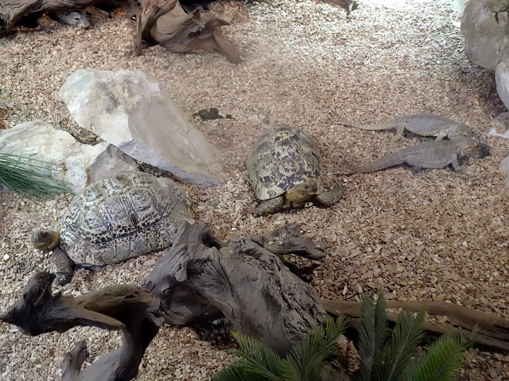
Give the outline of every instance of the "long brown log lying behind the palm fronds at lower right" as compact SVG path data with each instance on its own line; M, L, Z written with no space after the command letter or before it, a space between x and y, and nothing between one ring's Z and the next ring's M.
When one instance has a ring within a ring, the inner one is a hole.
M412 312L425 307L428 314L445 315L450 324L425 322L428 334L442 334L447 331L460 332L464 337L470 337L472 328L477 324L480 336L477 344L490 347L498 351L509 351L509 320L492 313L475 311L473 309L448 302L421 301L388 301L387 308L401 308L408 306ZM361 303L346 300L322 299L322 306L333 315L347 315L352 317L352 326L358 325L361 317ZM398 314L388 313L388 319L395 322Z

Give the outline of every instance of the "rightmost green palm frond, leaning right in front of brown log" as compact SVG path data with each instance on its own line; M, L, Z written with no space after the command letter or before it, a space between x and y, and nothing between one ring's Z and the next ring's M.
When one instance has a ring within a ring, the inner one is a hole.
M479 334L478 327L472 330L470 339L459 332L447 332L428 348L408 379L412 381L453 381L463 365L465 351L473 345Z

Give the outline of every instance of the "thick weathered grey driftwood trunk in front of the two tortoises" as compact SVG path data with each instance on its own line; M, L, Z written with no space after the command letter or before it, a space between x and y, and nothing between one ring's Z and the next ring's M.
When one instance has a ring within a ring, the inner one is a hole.
M274 247L279 245L276 237L282 237L286 253L292 246L310 244L296 225L266 234L275 238ZM263 236L260 242L268 237ZM325 310L317 293L255 242L257 237L235 237L227 246L205 224L185 223L173 247L142 282L162 300L166 323L189 324L222 314L239 331L286 354L321 322Z

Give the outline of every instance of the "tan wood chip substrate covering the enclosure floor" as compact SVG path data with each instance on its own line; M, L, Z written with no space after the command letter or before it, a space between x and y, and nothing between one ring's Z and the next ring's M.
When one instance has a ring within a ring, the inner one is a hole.
M42 119L73 133L58 91L82 68L140 69L163 81L193 124L216 144L224 184L183 185L196 217L220 239L296 223L316 241L331 243L312 284L328 299L359 300L360 293L389 300L446 300L509 318L509 201L498 163L509 140L489 137L504 126L507 111L494 74L463 52L458 15L447 0L359 0L350 13L313 0L278 5L221 0L211 11L229 20L223 33L238 44L243 62L211 51L175 54L160 46L134 57L135 21L123 10L92 17L90 29L48 21L0 39L0 109L5 128ZM215 107L232 118L201 120ZM436 113L466 122L491 146L491 155L469 160L465 173L450 168L412 174L405 166L349 175L343 158L367 163L404 146L394 131L361 131L331 113L357 122ZM342 200L328 209L310 207L254 218L257 200L244 161L269 126L286 123L307 131L323 155L325 186L342 184ZM20 296L27 279L48 266L30 244L33 230L63 214L71 196L47 202L0 192L0 312ZM62 288L80 295L108 284L138 283L160 253L118 265L78 269ZM302 260L301 260L302 261ZM63 355L86 340L88 361L119 345L120 334L90 327L29 337L0 326L0 379L55 380ZM228 327L164 326L148 347L138 380L209 380L231 361ZM86 363L89 364L89 363ZM461 380L507 380L509 357L474 349Z

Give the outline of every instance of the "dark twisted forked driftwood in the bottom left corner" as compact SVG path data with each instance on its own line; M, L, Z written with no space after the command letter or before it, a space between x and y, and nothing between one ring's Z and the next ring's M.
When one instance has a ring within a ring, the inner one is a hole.
M52 295L54 274L40 272L31 278L21 300L0 315L0 320L14 324L31 336L75 326L122 329L119 348L102 356L91 366L80 370L87 358L82 341L66 354L62 380L129 380L138 373L138 366L150 341L162 324L160 301L136 285L114 285L76 298Z

